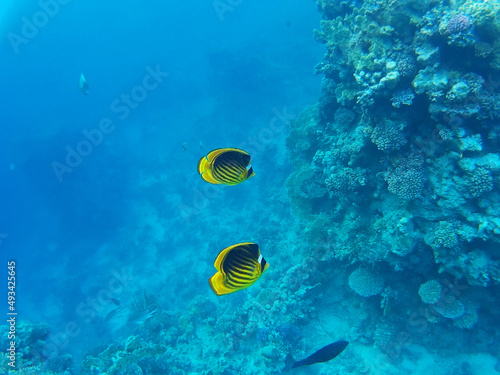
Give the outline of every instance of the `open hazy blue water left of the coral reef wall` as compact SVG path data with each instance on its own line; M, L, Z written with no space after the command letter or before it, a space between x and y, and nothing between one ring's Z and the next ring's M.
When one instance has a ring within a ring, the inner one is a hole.
M222 15L212 2L71 1L16 44L8 33L22 37L22 17L32 20L40 5L5 7L0 264L17 263L18 319L48 323L53 333L78 324L83 333L60 348L78 361L100 335L104 344L119 337L77 313L79 304L106 288L113 270L133 272L133 290L154 290L163 308L182 309L195 290L211 293L206 279L226 243L255 239L251 229L263 223L253 225L244 209L265 196L249 187L223 190L225 202L203 200L198 206L210 210L204 220L184 220L179 202L192 207L205 187L196 174L205 152L242 145L275 113L297 114L317 98L321 78L313 67L323 50L312 30L320 15L313 3L301 1L243 1ZM121 119L112 103L142 85L151 70L162 72L162 82ZM81 72L88 96L78 89ZM67 147L76 149L86 139L82 132L103 119L113 130L85 149L88 156L71 172L57 176L53 163L65 164ZM258 141L254 162L266 166L258 171L262 191L274 174L290 168L284 147L273 145L283 144L285 135L280 129L275 140ZM146 179L156 182L141 184ZM219 228L217 217L229 209L246 223ZM155 250L150 237L157 228L144 229L138 217L148 211L165 231ZM214 246L221 238L227 242ZM178 257L189 258L193 270L169 270ZM167 278L178 278L189 291L176 289L175 280L169 288Z

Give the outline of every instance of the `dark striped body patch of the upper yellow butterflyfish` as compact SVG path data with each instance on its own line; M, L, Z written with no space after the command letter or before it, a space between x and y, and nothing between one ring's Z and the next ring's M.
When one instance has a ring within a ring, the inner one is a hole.
M250 155L238 151L227 151L215 158L212 174L220 183L236 184L244 180L244 172L249 164Z

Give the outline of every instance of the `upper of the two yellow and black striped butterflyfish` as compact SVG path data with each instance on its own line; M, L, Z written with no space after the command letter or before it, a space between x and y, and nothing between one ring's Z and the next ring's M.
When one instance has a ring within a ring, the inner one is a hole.
M198 162L198 173L211 184L237 185L255 173L250 155L238 148L218 148Z

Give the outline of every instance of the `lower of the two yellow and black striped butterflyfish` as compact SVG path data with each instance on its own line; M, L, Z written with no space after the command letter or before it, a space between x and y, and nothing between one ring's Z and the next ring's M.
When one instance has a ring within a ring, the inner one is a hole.
M217 273L208 283L218 296L248 288L269 267L259 246L242 242L222 250L214 264Z

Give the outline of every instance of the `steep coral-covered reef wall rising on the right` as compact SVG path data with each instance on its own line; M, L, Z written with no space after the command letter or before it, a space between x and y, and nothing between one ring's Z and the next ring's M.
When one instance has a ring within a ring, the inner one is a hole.
M296 167L289 197L315 228L311 247L323 262L350 267L353 292L381 295L369 300L381 307L369 342L386 353L407 332L428 348L457 348L463 338L460 350L498 357L489 347L498 334L486 332L500 314L492 304L500 283L500 3L317 5L315 36L327 50L316 67L322 95L287 138ZM425 335L411 324L418 317Z

